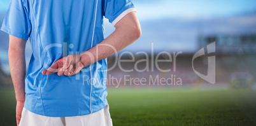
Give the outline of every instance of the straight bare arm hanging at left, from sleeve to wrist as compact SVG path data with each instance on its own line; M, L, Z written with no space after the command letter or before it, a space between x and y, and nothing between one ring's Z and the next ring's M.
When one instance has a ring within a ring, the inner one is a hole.
M17 101L25 101L25 40L11 38L9 45L11 79Z

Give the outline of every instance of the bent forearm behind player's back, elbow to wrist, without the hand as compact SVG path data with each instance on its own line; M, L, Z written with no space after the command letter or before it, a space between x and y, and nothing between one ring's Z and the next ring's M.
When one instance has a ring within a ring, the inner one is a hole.
M108 38L104 39L93 48L90 48L90 50L80 54L82 55L81 60L84 66L89 66L98 60L105 59L106 57L119 52L126 46L131 45L141 36L141 28L138 19L136 17L134 18L134 13L131 13L131 15L127 15L126 18L122 19L122 22L117 24L115 31L110 34ZM134 21L131 21L131 17L133 17L132 20ZM134 23L131 24L131 22ZM130 23L131 25L122 25L121 23Z

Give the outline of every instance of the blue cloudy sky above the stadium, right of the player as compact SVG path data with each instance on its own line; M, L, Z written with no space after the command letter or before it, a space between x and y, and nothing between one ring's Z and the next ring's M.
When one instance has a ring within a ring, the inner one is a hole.
M198 48L198 29L203 29L209 34L232 34L241 31L242 28L238 29L240 24L255 24L253 17L227 18L255 13L255 0L134 0L132 2L141 22L142 36L124 51L142 49L148 51L153 42L157 52L194 52ZM209 27L210 25L213 27ZM107 35L114 30L110 24L106 24L106 27L110 31L107 31Z

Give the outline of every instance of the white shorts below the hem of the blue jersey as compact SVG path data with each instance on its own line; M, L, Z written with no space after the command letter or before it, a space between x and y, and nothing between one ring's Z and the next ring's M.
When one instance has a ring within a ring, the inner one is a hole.
M95 113L83 116L49 117L32 113L23 108L19 126L111 126L109 106Z

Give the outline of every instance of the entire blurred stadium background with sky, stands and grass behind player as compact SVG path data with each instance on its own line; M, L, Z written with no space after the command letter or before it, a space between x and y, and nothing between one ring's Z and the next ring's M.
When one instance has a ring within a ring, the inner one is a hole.
M256 125L255 1L133 2L143 35L119 52L118 57L108 58L108 67L113 68L108 71L107 82L113 124ZM0 24L9 3L10 0L0 1ZM108 36L114 28L108 20L104 24ZM0 42L0 125L15 125L8 34L0 31ZM207 45L213 42L215 53L192 60L198 50L204 48L207 52ZM31 56L29 43L27 64ZM163 51L171 57L160 53ZM175 62L174 53L178 54ZM216 59L214 84L194 72L196 69L207 75L210 56ZM144 62L138 62L143 59ZM120 60L132 61L118 66ZM158 62L156 66L156 60L169 62ZM135 66L141 71L136 71ZM145 78L145 81L138 84L142 80L134 81L134 78ZM181 84L177 83L179 80Z

